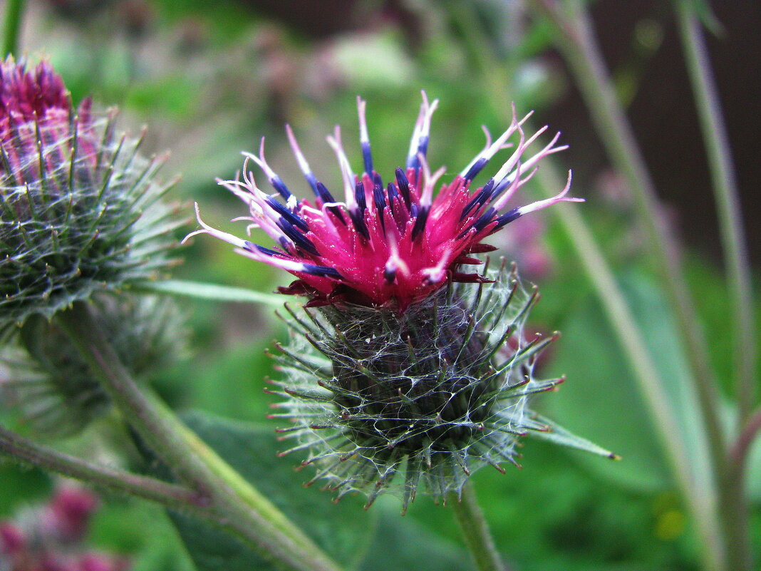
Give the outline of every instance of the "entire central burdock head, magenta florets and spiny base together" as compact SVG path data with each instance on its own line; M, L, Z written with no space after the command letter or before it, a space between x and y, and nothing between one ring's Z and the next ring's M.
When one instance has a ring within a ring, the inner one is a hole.
M501 463L516 463L517 439L527 432L608 454L562 429L550 432L546 419L527 410L529 394L562 381L532 376L537 353L552 340L524 339L536 290L527 292L505 263L491 272L463 270L483 263L473 254L495 249L484 238L521 215L580 200L566 196L569 173L557 196L508 209L540 160L565 147L556 146L556 135L525 156L546 127L527 137L528 116L519 120L514 111L508 129L493 142L487 132L482 152L435 195L444 168L431 174L426 151L436 105L423 94L406 168L384 184L358 98L361 175L352 171L339 129L328 137L342 174L339 199L317 180L290 127L314 203L291 194L264 158L263 142L258 156L244 153L242 180L220 183L247 204L245 220L266 231L275 248L218 231L200 217L202 229L193 232L297 276L280 291L308 301L305 314L288 308L291 343L275 357L285 379L274 383L282 390L272 391L285 397L276 405L283 412L273 416L294 423L282 429L283 438L298 442L284 453L306 450L304 464L317 466L310 481L326 479L338 497L360 490L368 505L397 483L403 509L421 481L427 493L445 498L483 464L502 471ZM507 161L472 190L471 180L511 138L517 142ZM282 201L260 190L250 161Z

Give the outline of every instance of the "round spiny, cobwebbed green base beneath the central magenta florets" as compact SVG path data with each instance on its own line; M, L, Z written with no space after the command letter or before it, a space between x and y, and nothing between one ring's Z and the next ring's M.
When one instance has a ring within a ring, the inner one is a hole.
M514 270L495 282L450 284L399 313L330 305L291 311L291 343L276 356L286 397L283 429L307 449L326 488L375 497L397 487L403 509L419 481L426 493L459 492L484 464L516 463L527 431L545 430L527 410L527 395L562 379L532 376L538 352L552 340L524 339L537 298ZM506 344L511 340L510 344ZM508 349L509 347L509 349ZM317 383L315 379L317 378ZM396 486L396 484L399 484Z

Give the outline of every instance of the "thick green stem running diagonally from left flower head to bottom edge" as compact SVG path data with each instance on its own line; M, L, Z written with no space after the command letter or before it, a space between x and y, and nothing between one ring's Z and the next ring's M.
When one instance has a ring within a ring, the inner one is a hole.
M221 477L220 466L226 467L227 474L235 473L207 449L206 456L215 461L214 467L209 466L209 459L196 452L196 448L202 448L200 440L195 435L195 441L189 439L192 433L174 413L157 406L156 400L142 394L132 381L87 304L77 302L57 318L126 420L180 480L208 500L209 512L224 529L286 571L339 569L251 486L246 485L247 495L241 496L242 478L230 482Z

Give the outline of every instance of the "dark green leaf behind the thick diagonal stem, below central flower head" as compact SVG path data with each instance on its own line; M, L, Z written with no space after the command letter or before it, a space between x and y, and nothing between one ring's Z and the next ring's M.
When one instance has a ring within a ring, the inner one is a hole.
M345 566L354 566L364 557L377 515L363 511L357 498L345 498L336 505L329 493L304 489L301 484L308 477L294 471L295 459L277 457L280 448L271 428L196 412L183 419L331 557ZM223 531L186 515L170 515L198 571L275 569Z

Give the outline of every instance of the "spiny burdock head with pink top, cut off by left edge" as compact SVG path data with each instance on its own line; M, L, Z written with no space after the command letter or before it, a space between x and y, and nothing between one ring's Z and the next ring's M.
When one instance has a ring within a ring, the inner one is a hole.
M158 202L162 159L78 109L46 62L0 62L0 328L52 316L167 266L178 223Z

